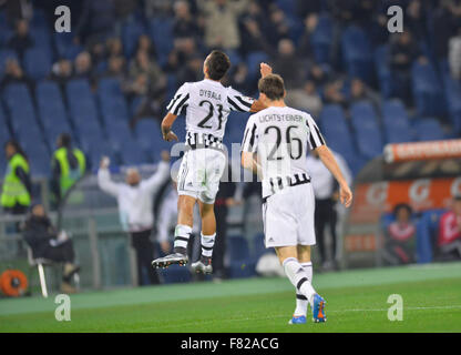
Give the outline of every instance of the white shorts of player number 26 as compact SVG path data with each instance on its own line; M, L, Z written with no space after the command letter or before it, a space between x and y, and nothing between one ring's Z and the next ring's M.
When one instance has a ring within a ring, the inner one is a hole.
M266 247L314 245L315 197L311 183L290 186L263 204Z

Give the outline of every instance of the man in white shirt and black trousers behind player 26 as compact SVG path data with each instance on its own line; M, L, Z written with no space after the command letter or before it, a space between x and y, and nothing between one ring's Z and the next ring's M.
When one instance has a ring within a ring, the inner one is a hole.
M348 185L352 182L352 176L350 170L342 159L341 155L331 151L336 161L338 162L339 168L345 175L346 182ZM318 242L318 248L320 252L320 257L322 262L322 267L329 270L336 267L336 257L337 257L337 235L336 227L338 221L338 214L336 206L339 200L339 186L335 180L335 176L331 175L329 170L321 162L318 152L311 151L307 156L307 166L310 176L313 178L314 195L316 199L316 210L315 210L315 226L316 226L316 236ZM325 229L328 227L331 235L332 243L332 263L327 258L328 253L325 248Z

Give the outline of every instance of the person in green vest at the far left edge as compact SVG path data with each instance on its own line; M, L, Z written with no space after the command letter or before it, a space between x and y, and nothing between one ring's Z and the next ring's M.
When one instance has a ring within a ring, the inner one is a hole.
M8 168L0 197L1 206L6 213L25 214L31 204L32 191L28 156L14 140L4 144L4 153Z

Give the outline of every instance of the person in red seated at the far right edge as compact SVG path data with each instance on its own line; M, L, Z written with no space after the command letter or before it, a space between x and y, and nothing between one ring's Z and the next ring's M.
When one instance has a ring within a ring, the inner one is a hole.
M439 222L437 246L442 257L461 258L461 195L452 201L452 207Z

